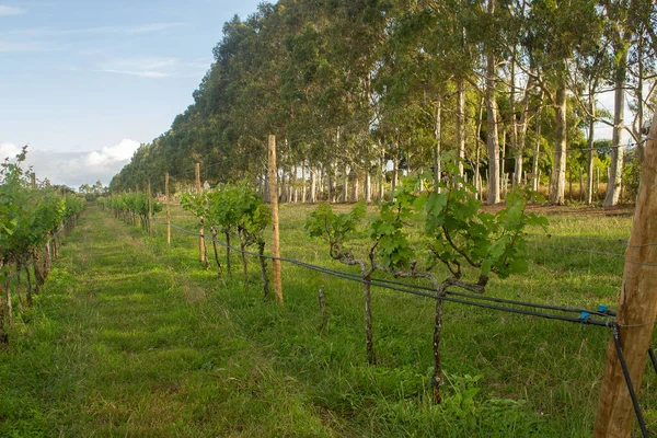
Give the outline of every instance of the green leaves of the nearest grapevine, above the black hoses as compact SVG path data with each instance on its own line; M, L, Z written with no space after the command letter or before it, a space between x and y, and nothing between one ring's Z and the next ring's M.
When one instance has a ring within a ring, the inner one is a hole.
M443 157L443 170L437 187L431 186L430 174L405 178L369 223L368 237L380 265L392 272L415 269L418 256L424 256L427 270L441 263L454 278L461 278L462 266L470 265L479 270L482 286L492 273L506 278L526 272L525 231L548 226L546 218L526 211L529 199L539 195L518 188L509 194L504 208L489 212L472 195L474 187L459 176L453 153ZM419 192L420 180L429 191ZM334 246L344 246L364 217L364 205L336 215L322 204L309 216L306 229L311 237L324 239L334 253ZM425 237L419 246L413 246L407 226L418 220Z

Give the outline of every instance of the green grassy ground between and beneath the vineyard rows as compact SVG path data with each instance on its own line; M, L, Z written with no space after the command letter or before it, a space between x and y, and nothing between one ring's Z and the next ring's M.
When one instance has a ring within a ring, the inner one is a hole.
M283 255L346 269L306 237L309 211L281 207ZM630 212L544 212L530 273L487 293L615 307ZM178 209L172 221L194 228ZM166 249L163 227L148 238L90 207L0 354L0 436L590 436L607 330L448 304L448 397L434 406L433 302L374 289L368 366L357 285L284 265L280 309L255 261L244 288L237 257L218 278L196 244L174 230ZM653 429L656 384L648 370Z

